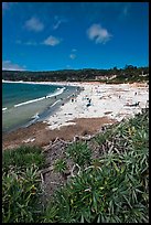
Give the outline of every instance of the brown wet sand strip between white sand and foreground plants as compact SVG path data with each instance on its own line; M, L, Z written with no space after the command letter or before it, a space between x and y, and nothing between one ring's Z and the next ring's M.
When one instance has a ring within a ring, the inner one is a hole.
M72 120L76 125L64 126L60 129L50 130L47 125L36 122L28 128L20 128L2 136L2 149L13 149L21 144L44 147L56 138L73 140L75 136L94 135L104 125L114 124L116 120L103 118L80 118Z

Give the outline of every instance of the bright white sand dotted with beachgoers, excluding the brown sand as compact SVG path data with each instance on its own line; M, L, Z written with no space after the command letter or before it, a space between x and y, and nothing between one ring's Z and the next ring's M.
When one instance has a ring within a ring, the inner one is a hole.
M69 83L62 84L69 85ZM44 121L48 125L50 129L60 129L62 126L72 125L73 122L71 124L71 120L75 118L97 118L107 116L108 118L120 121L123 118L132 117L134 114L141 111L141 108L144 108L147 100L149 100L149 86L147 84L109 85L97 83L71 83L71 85L84 87L84 90L80 92L73 103L71 99L63 105L55 115ZM136 93L137 95L134 95ZM89 107L87 107L87 98L91 99ZM137 101L140 101L137 107L127 106L128 104L136 104Z

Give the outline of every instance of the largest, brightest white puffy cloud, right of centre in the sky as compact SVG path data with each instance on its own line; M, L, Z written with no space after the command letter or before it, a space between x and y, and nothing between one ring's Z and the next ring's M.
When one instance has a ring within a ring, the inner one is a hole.
M87 35L91 41L95 40L96 43L103 44L109 41L110 38L112 36L111 34L108 33L107 29L103 29L101 25L99 24L93 24L87 30Z

